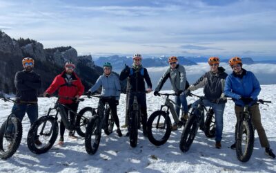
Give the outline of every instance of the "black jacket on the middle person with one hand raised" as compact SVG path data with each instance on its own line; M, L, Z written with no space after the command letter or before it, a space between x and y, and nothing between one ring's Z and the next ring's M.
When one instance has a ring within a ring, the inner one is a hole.
M130 74L130 68L132 68L133 70L132 75ZM135 69L133 69L132 66L131 67L126 66L126 68L123 71L121 71L119 79L125 80L128 77L129 77L129 84L130 84L128 91L145 91L146 88L145 88L144 80L146 80L146 83L148 84L148 89L152 88L150 76L148 75L148 71L146 68L144 68L144 75L141 75L141 69L137 69L137 71L135 71Z

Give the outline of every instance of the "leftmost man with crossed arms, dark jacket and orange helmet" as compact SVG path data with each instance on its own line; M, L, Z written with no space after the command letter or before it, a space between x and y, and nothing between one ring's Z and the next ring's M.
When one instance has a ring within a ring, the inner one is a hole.
M27 113L32 125L38 118L37 93L41 88L41 79L37 73L34 73L34 60L30 57L25 57L22 60L24 70L18 71L15 74L14 84L17 89L16 103L12 107L12 113L21 121ZM39 140L36 140L37 145L41 145Z

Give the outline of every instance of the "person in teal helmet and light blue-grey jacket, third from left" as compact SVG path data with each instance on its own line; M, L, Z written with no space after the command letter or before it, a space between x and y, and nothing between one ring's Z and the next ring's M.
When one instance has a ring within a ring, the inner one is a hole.
M99 99L98 104L99 116L103 116L103 107L107 102L112 111L112 116L117 126L117 134L121 137L122 134L119 125L119 118L117 115L117 105L119 105L121 86L119 78L114 73L111 73L111 71L112 65L109 62L105 62L103 64L103 74L99 76L97 82L91 87L91 89L89 89L88 93L95 93L95 91L97 91L97 89L102 86L102 98Z

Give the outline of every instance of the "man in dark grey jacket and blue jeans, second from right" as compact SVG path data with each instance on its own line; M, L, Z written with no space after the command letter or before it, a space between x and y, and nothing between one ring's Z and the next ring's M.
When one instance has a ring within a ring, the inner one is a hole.
M201 87L204 87L204 105L206 107L212 107L215 113L215 147L221 148L221 136L224 127L223 115L226 103L226 97L224 95L224 86L227 73L225 69L219 66L218 57L210 57L208 60L210 71L188 87L185 91L189 95L190 91L195 91ZM197 107L198 102L193 104L193 107Z

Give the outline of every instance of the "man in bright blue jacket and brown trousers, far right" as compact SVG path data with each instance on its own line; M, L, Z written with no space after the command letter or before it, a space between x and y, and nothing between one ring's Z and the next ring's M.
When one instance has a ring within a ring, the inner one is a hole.
M252 113L252 122L255 129L257 129L261 146L266 148L265 153L268 156L275 158L275 154L273 154L272 149L270 149L268 138L266 137L266 131L264 131L264 127L261 123L259 104L255 102L261 91L259 81L252 72L242 69L241 58L232 57L229 60L229 65L233 69L233 73L226 78L224 93L228 97L233 98L235 102L235 114L237 120L239 119L239 113L244 110L244 105L248 104L250 106L249 111ZM231 149L235 149L235 146L235 143L231 145Z

